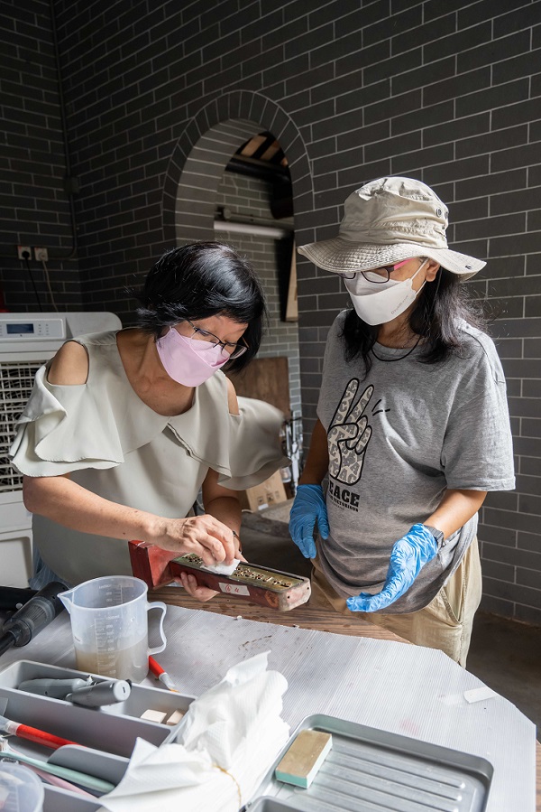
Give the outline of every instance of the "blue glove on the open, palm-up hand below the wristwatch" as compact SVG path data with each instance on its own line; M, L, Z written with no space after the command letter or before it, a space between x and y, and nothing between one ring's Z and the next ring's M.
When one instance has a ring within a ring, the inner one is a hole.
M351 611L378 611L401 597L417 578L422 567L437 553L436 538L424 525L410 527L406 536L399 538L390 554L389 570L381 593L361 593L348 598Z

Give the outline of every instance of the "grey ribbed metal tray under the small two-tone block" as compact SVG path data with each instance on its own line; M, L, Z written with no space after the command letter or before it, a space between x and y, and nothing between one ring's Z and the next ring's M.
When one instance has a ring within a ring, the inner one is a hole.
M284 784L274 770L297 733L331 733L333 747L308 789ZM407 736L307 716L267 773L249 812L483 812L493 767L479 756Z

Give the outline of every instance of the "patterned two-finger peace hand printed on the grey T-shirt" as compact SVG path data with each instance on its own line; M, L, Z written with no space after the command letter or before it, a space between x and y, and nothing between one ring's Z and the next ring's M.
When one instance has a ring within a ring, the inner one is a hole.
M371 438L368 417L362 413L374 387L366 387L353 406L358 388L359 381L356 378L350 380L327 432L329 473L346 485L354 485L361 479L364 453Z

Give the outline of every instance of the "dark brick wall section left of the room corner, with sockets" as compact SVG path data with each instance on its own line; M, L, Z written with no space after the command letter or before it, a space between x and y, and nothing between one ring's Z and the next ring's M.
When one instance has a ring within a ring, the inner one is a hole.
M49 0L2 4L0 48L0 287L11 311L51 311L45 269L33 250L28 267L16 248L47 247L55 303L79 310Z

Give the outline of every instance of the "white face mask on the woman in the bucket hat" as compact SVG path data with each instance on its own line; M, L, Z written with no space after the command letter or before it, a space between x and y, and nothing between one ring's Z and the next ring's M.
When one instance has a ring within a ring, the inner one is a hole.
M426 259L421 263L409 279L390 279L383 285L369 282L362 274L355 274L353 279L344 279L357 315L363 322L373 326L392 322L400 313L404 313L425 286L423 282L418 291L415 291L413 280L427 262Z

